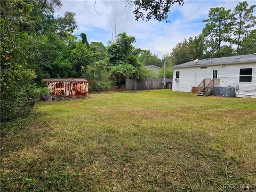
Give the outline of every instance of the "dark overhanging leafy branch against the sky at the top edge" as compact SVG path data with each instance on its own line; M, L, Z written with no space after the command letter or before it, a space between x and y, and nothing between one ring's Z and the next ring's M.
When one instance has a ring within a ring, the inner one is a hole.
M183 0L133 0L130 1L130 3L135 5L133 14L135 15L136 21L139 19L143 20L146 15L146 21L149 21L153 17L158 21L165 20L168 22L167 13L170 11L171 7L177 3L183 5Z

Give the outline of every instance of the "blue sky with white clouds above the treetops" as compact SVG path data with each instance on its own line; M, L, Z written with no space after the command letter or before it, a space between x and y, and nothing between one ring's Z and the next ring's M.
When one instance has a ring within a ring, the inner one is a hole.
M247 1L249 5L255 1ZM136 47L148 49L162 57L170 53L172 48L184 38L202 32L211 7L224 6L233 10L239 1L186 1L183 6L174 5L169 12L170 23L154 19L135 21L134 7L127 1L62 1L63 6L57 10L58 15L66 11L76 13L78 29L74 35L85 33L90 42L107 42L116 33L126 32L135 36ZM255 11L254 11L255 14Z

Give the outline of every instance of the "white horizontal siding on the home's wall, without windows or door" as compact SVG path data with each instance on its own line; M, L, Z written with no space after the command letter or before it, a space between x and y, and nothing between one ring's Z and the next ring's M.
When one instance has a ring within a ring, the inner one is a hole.
M252 68L252 82L239 82L239 71L241 68ZM212 78L212 70L218 69L220 86L239 85L236 91L239 95L256 96L256 63L215 65L201 68L199 66L173 69L173 91L190 92L193 86L197 86L204 78ZM175 81L176 71L180 71L179 81Z

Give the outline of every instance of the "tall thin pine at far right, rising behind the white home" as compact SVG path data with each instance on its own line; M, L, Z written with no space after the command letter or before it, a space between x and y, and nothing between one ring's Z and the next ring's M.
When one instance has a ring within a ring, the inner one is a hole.
M234 43L237 45L237 55L241 52L240 49L243 39L250 33L250 29L256 25L256 17L253 15L253 9L255 7L256 5L248 7L248 3L246 1L239 2L235 7L234 13L236 16L236 22L234 28Z

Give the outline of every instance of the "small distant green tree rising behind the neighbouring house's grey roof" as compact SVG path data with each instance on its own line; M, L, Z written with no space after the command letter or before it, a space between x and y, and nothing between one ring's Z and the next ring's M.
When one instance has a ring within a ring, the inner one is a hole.
M163 66L161 59L159 59L156 54L152 54L149 50L141 50L140 53L141 54L139 55L138 59L144 66Z

